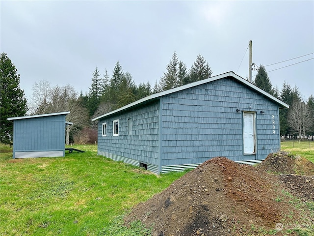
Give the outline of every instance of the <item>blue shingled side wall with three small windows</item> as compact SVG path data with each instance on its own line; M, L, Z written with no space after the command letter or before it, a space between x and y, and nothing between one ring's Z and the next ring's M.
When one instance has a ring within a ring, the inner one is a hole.
M132 133L128 134L128 119ZM119 136L113 136L113 120L119 119ZM102 124L107 123L107 135L102 136ZM148 169L159 166L159 100L129 112L102 118L98 123L98 154L114 160L148 164ZM106 155L105 155L106 156ZM128 160L130 159L130 160Z

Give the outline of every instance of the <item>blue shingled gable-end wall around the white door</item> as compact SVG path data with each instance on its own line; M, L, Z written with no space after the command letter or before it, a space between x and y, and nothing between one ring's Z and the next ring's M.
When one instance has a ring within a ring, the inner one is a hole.
M202 163L216 156L264 159L280 149L278 105L233 79L184 89L161 101L162 166ZM243 111L256 112L254 155L243 154Z

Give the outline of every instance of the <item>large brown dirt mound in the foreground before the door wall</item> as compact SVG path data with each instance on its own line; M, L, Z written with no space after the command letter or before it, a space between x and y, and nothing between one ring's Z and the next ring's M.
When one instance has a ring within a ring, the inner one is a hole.
M312 181L312 180L311 180ZM204 162L125 217L153 227L153 236L248 235L298 219L278 177L225 157ZM293 214L291 217L285 217ZM277 235L280 235L277 234Z

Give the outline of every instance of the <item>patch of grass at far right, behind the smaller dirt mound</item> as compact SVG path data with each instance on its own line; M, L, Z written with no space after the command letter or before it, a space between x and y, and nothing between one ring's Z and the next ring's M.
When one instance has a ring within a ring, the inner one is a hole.
M314 163L314 142L310 141L283 141L281 149L307 158Z

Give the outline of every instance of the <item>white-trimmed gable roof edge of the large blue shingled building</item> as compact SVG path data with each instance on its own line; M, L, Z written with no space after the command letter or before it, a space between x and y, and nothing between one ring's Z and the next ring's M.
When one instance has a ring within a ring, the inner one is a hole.
M117 112L126 110L126 109L131 108L133 106L136 106L138 104L148 102L150 100L156 99L158 97L162 97L162 96L170 94L170 93L178 92L178 91L181 91L183 89L189 89L189 88L192 88L192 87L195 87L195 86L203 85L203 84L206 84L206 83L209 83L209 82L212 82L212 81L215 81L215 80L220 80L220 79L223 79L223 78L227 78L227 77L232 77L236 81L238 81L238 82L240 82L240 83L250 87L251 89L256 90L257 92L261 93L265 97L267 97L270 100L272 100L275 103L277 103L281 108L289 108L288 104L284 103L283 101L279 100L278 98L270 95L269 93L265 92L264 90L260 89L259 87L253 85L252 83L250 83L247 80L243 79L242 77L238 76L237 74L235 74L235 72L230 71L230 72L226 72L226 73L223 73L223 74L220 74L220 75L209 77L208 79L205 79L205 80L197 81L197 82L194 82L194 83L191 83L191 84L187 84L187 85L183 85L183 86L180 86L180 87L177 87L177 88L174 88L174 89L168 89L168 90L165 90L165 91L162 91L162 92L157 92L157 93L148 95L148 96L143 97L143 98L141 98L141 99L139 99L139 100L137 100L135 102L132 102L132 103L126 105L126 106L120 107L119 109L116 109L114 111L108 112L108 113L106 113L106 114L104 114L102 116L93 118L92 121L100 119L100 118L104 118L104 117L107 117L107 116L110 116L110 115L115 114Z

